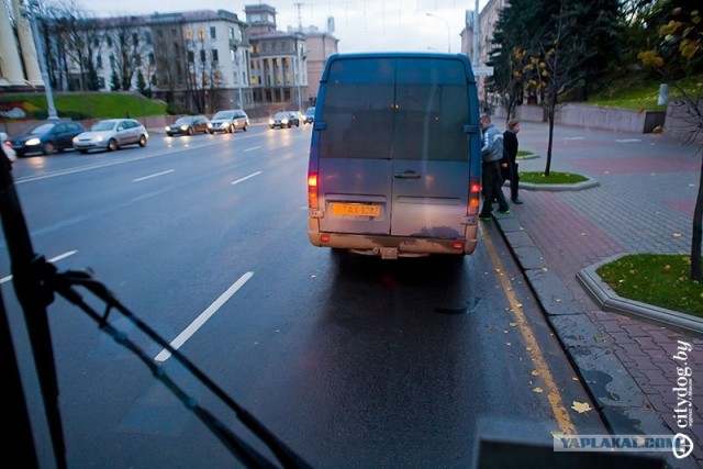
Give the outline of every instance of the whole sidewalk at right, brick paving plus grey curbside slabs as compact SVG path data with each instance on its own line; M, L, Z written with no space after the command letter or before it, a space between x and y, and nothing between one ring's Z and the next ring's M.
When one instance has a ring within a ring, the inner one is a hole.
M539 157L520 161L520 170L544 171L548 125L521 122L521 127L520 148ZM576 191L521 188L522 205L512 204L510 215L494 212L612 433L689 436L693 454L667 458L680 468L703 467L703 334L605 312L577 276L622 254L690 254L701 171L696 150L700 146L657 134L556 126L550 169L588 176L598 185ZM680 340L692 347L685 360L673 358ZM677 371L687 366L692 405L679 402L673 390ZM679 427L682 413L687 421Z

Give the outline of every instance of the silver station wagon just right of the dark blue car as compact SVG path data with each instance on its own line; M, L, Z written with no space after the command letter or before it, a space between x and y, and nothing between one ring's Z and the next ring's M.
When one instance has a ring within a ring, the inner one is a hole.
M124 145L146 146L149 134L135 119L104 119L93 124L90 131L74 137L74 146L79 153L89 149L114 152Z

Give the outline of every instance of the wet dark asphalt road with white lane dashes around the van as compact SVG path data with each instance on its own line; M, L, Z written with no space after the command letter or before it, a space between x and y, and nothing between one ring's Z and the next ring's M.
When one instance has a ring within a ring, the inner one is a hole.
M547 445L553 432L605 433L594 410L571 409L589 398L492 225L462 261L381 261L311 246L309 138L309 126L154 133L145 148L25 158L13 176L35 252L59 256L59 270L91 267L313 467L468 467L486 428ZM7 280L2 293L46 443ZM69 467L236 466L83 313L58 299L49 317ZM160 346L111 317L159 357ZM160 366L261 448L172 357Z

